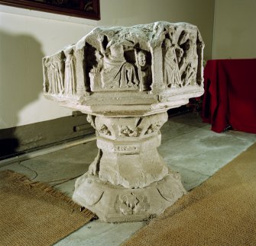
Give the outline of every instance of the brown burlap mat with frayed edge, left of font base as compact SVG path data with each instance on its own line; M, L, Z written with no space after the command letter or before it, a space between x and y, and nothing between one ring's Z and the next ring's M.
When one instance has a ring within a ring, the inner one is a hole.
M0 172L0 245L51 245L94 216L47 184Z

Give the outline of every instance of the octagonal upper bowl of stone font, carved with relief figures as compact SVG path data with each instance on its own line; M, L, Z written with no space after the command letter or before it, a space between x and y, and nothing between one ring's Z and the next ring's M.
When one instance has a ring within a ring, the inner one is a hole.
M125 92L120 98L142 93L168 101L173 90L202 90L203 46L191 24L96 27L75 45L43 59L44 92L60 101L79 97L79 104L96 94L112 98L117 91Z

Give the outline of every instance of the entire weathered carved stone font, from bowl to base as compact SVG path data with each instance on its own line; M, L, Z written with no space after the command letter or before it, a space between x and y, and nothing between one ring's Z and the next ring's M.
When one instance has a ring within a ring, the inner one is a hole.
M159 215L186 191L157 152L167 110L203 94L197 27L156 22L97 27L47 56L44 96L88 113L99 153L73 200L105 222Z

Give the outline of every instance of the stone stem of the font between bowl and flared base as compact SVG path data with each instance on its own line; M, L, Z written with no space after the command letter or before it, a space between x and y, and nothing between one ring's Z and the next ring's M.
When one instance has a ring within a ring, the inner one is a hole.
M89 173L126 188L147 187L168 174L157 152L167 113L147 117L96 117L99 155ZM99 160L100 158L100 160Z

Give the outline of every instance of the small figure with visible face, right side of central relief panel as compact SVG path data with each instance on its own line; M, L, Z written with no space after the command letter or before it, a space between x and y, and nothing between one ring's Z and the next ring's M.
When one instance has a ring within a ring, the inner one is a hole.
M151 85L152 72L151 65L147 64L146 54L143 51L139 51L137 54L139 76L141 81L141 91L149 90L149 85Z

